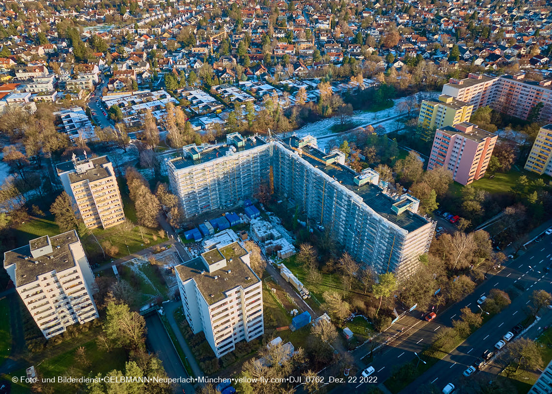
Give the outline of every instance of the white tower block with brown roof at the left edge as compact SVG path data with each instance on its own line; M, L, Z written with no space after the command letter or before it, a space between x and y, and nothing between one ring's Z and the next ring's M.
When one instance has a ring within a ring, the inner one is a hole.
M4 252L4 268L46 339L98 317L94 274L75 230Z

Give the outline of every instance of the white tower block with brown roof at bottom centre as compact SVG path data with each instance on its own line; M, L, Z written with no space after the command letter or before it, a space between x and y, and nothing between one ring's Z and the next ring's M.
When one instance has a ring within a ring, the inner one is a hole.
M184 315L217 357L264 333L262 282L238 243L215 247L175 267Z

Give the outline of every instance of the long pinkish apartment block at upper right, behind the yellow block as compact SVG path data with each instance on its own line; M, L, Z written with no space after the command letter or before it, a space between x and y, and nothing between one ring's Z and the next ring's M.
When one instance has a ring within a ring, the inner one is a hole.
M525 74L493 77L470 73L468 78L451 78L444 84L443 94L474 106L489 107L502 113L527 119L535 105L543 103L539 118L552 122L552 81L532 81Z

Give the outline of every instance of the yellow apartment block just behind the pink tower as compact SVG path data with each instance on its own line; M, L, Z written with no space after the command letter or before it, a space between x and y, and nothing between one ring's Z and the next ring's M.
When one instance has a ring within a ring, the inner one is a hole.
M418 126L427 130L438 129L444 126L454 126L470 120L474 106L454 99L446 94L441 94L439 99L427 99L422 101ZM424 134L426 140L429 133Z

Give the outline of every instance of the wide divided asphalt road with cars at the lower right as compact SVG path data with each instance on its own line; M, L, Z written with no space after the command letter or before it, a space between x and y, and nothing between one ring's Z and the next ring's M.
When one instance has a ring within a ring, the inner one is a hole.
M452 320L459 318L461 308L468 306L473 312L480 311L477 307L477 299L481 295L488 294L491 289L505 290L514 283L524 285L527 290L517 297L506 310L484 324L457 350L426 371L418 380L403 390L401 394L415 393L421 384L428 384L432 381L439 386L440 390L449 382L454 382L487 348L493 348L495 343L506 332L526 318L522 309L526 306L528 296L533 290L552 290L552 273L544 274L544 267L552 263L551 258L552 235L546 236L543 241L536 244L535 247L529 249L529 251L516 260L509 260L507 267L496 275L491 276L484 284L477 287L473 294L457 302L457 304L448 308L446 312L439 313L437 309L437 317L432 322L428 323L424 321L421 312L413 311L412 316L417 317L417 320L411 320L411 324L405 324L405 333L402 334L400 339L385 347L381 354L379 352L375 354L374 361L370 364L375 368L375 372L372 375L377 377L374 382L375 385L379 385L388 379L395 365L402 365L415 359L416 355L414 352L419 354L427 345L431 344L433 336L440 328L452 327ZM529 265L532 265L535 272L528 268ZM539 274L537 271L542 271L542 273ZM473 350L470 351L470 349ZM358 366L363 365L360 363L361 357L355 356L355 364ZM453 367L451 368L451 366ZM364 393L367 390L367 385L374 383L361 383L361 372L362 368L359 368L356 380L351 379L352 382L340 385L336 390L340 392L347 390L350 393ZM336 392L336 390L332 392Z

